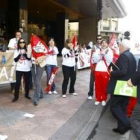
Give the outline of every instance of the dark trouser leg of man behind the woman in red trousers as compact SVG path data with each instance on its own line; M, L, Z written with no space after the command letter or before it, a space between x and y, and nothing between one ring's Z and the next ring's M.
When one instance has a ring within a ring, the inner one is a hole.
M90 73L90 83L89 83L89 92L88 92L88 96L93 96L94 81L95 81L95 77L94 77L93 72L91 71L91 73Z

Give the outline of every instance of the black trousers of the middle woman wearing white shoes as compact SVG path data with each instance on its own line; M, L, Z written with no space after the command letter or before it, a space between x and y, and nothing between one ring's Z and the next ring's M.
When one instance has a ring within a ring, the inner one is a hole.
M69 83L69 79L70 79L69 93L74 93L75 92L74 85L75 85L75 81L76 81L75 67L68 67L68 66L62 65L62 72L63 72L63 76L64 76L64 80L62 83L62 94L65 95L67 92L67 86Z

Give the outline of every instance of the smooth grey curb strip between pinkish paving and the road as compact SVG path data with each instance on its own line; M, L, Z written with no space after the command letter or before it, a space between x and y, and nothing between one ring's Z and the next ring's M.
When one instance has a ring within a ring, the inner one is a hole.
M95 106L94 100L85 100L75 114L49 140L90 140L108 104L109 100L105 107Z

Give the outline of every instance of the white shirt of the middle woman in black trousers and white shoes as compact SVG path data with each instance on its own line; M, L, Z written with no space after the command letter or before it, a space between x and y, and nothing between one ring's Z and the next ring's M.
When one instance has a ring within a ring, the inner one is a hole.
M74 52L73 55L71 55L70 50L67 48L63 48L62 50L62 59L63 59L62 65L68 67L74 67L76 65Z

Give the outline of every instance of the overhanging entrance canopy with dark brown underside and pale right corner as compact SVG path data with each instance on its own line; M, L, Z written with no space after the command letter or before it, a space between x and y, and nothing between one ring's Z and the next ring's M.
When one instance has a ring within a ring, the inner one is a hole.
M97 17L98 0L28 0L29 16L55 20L58 12L68 13L70 20ZM119 18L126 16L122 0L102 0L102 17Z

